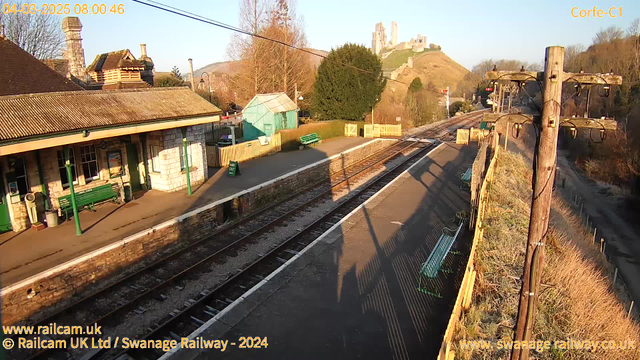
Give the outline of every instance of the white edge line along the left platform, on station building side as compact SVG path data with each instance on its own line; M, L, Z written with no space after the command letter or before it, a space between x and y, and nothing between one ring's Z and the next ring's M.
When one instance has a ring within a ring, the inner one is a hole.
M203 211L209 210L214 206L220 205L220 204L225 203L225 202L227 202L229 200L232 200L232 199L234 199L236 197L240 197L240 196L242 196L244 194L256 191L256 190L258 190L260 188L263 188L265 186L269 186L269 185L275 183L276 181L279 181L279 180L282 180L284 178L293 176L293 175L295 175L295 174L297 174L297 173L299 173L301 171L307 170L307 169L312 168L314 166L318 166L318 165L320 165L322 163L325 163L327 161L331 161L331 160L333 160L333 159L335 159L337 157L340 157L341 155L350 153L352 151L355 151L357 149L360 149L360 148L362 148L364 146L370 145L370 144L372 144L374 142L378 142L378 141L397 141L397 140L396 139L373 139L371 141L367 141L366 143L363 143L363 144L360 144L358 146L352 147L352 148L347 149L347 150L345 150L345 151L343 151L341 153L332 155L332 156L330 156L330 157L328 157L326 159L322 159L322 160L316 161L315 163L312 163L312 164L309 164L309 165L305 165L304 167L301 167L300 169L288 172L288 173L286 173L284 175L281 175L281 176L279 176L279 177L277 177L275 179L271 179L271 180L269 180L267 182L258 184L256 186L253 186L253 187L249 188L249 189L242 190L242 191L237 192L237 193L235 193L233 195L229 195L224 199L216 200L216 201L214 201L212 203L209 203L207 205L203 205L203 206L201 206L201 207L199 207L197 209L189 211L188 213L184 213L182 215L178 215L178 216L176 216L174 218L171 218L169 220L161 222L161 223L159 223L157 225L153 225L150 228L141 230L141 231L139 231L139 232L137 232L137 233L135 233L133 235L129 235L129 236L123 238L122 240L116 241L116 242L111 243L109 245L105 245L105 246L103 246L101 248L98 248L98 249L95 249L93 251L90 251L90 252L88 252L88 253L86 253L84 255L81 255L81 256L79 256L77 258L73 258L71 260L68 260L68 261L62 263L62 264L59 264L57 266L54 266L52 268L49 268L49 269L44 270L42 272L39 272L39 273L37 273L35 275L32 275L32 276L30 276L30 277L28 277L26 279L20 280L19 282L11 284L11 285L9 285L9 286L7 286L5 288L1 288L0 289L0 296L8 295L8 294L10 294L10 293L12 293L12 292L14 292L16 290L19 290L20 288L24 287L25 285L34 283L34 282L38 281L41 278L45 278L45 277L51 276L51 275L53 275L53 274L55 274L57 272L61 272L61 271L65 270L65 269L67 269L67 268L69 268L71 266L79 264L79 263L81 263L81 262L83 262L83 261L85 261L87 259L90 259L92 257L98 256L98 255L100 255L102 253L105 253L107 251L113 250L113 249L115 249L117 247L125 246L128 242L133 241L135 239L138 239L140 237L146 236L148 234L151 234L156 230L164 229L167 226L171 226L171 225L177 224L177 223L183 221L184 219L187 219L187 218L189 218L191 216L197 215L197 214L199 214L199 213L201 213Z

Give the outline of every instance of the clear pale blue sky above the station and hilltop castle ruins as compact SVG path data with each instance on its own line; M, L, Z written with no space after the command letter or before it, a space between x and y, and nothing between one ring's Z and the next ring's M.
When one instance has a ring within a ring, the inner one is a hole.
M239 25L239 0L159 0L190 12ZM177 65L188 71L227 60L231 32L134 3L125 4L124 15L80 15L84 25L83 45L87 65L103 52L130 49L140 55L140 43L157 71ZM70 2L77 3L77 2ZM80 3L92 3L80 1ZM110 4L109 2L103 2ZM622 17L573 18L571 8L606 11L622 7ZM428 42L467 68L483 59L508 58L542 62L549 45L591 44L601 28L619 26L626 30L640 17L640 1L431 1L431 0L298 0L297 11L306 25L309 44L330 50L345 42L371 46L371 33L382 21L390 36L391 21L398 23L399 41L418 33Z

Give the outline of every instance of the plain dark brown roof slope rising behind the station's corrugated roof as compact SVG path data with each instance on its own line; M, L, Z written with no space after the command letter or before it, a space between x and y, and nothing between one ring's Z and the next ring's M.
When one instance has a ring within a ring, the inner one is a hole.
M0 38L0 96L83 90L13 42Z

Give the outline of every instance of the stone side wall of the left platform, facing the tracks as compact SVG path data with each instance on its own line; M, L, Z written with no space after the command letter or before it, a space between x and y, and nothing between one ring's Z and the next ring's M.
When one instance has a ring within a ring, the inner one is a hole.
M197 241L210 236L218 224L250 214L301 190L329 173L364 159L374 152L394 144L378 140L355 150L324 161L310 168L285 175L238 197L205 205L188 214L159 224L118 243L98 249L55 269L2 289L2 323L15 324L36 312L55 310L68 305L84 293L95 289L100 280L130 269L142 259L160 256L159 251L169 249L180 241ZM195 161L195 160L194 160ZM179 164L178 164L179 166ZM54 306L55 305L55 306Z

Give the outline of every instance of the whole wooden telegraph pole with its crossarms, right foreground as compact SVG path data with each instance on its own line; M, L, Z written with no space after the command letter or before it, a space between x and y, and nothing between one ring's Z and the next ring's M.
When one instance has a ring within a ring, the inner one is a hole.
M525 263L522 276L522 289L520 292L518 316L514 341L530 341L535 312L540 290L540 278L544 264L544 248L549 230L549 214L551 212L551 197L553 181L555 177L558 129L560 126L576 128L597 129L604 132L616 129L615 120L598 120L589 118L570 118L561 121L560 110L562 107L562 83L578 82L578 85L604 85L606 94L610 85L622 84L622 77L613 74L584 74L564 73L564 48L550 46L546 49L544 72L527 72L524 68L520 72L514 71L490 71L486 77L490 80L510 80L526 82L531 80L542 81L543 106L542 114L533 117L534 126L539 129L536 141L534 168L533 168L533 195L531 198L531 214L529 217L529 233L525 253ZM498 98L499 108L502 108L502 87ZM488 114L485 120L496 121L501 119L507 123L522 124L523 118L531 118L525 115L501 115ZM511 360L526 360L529 358L529 349L516 349L511 352Z

